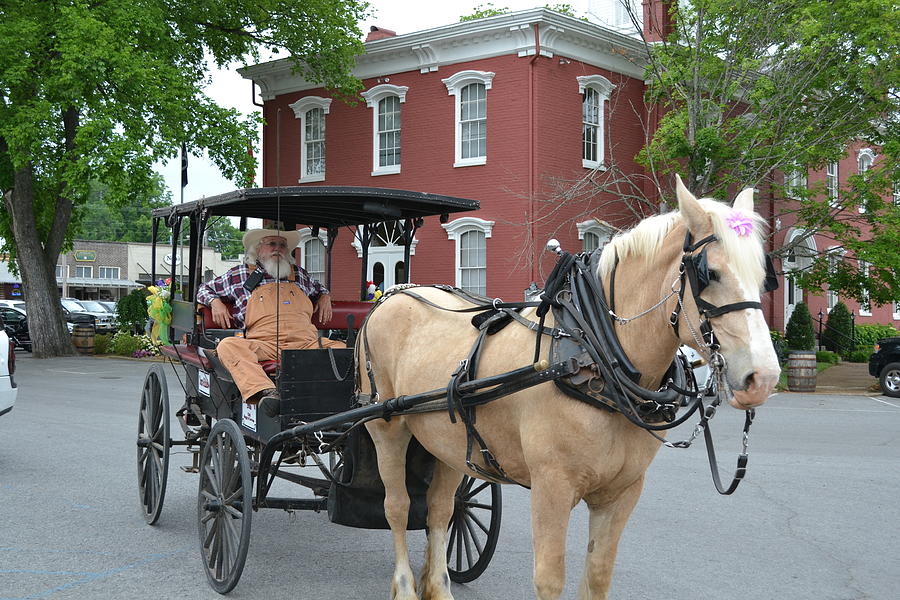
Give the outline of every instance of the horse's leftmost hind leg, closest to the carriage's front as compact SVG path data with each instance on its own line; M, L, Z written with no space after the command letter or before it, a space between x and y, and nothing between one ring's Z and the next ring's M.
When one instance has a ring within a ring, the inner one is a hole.
M384 483L384 516L394 537L394 576L391 600L419 600L416 578L409 564L406 526L409 494L406 491L406 448L412 438L402 418L366 423L378 455L378 472Z

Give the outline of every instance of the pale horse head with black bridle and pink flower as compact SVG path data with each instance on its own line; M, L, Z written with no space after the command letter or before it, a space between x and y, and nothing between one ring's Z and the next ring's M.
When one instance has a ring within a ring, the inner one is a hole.
M731 207L698 200L680 178L676 194L686 229L680 318L688 321L677 334L701 354L721 355L732 406L758 406L775 389L781 369L760 304L764 220L753 210L753 189L740 192Z

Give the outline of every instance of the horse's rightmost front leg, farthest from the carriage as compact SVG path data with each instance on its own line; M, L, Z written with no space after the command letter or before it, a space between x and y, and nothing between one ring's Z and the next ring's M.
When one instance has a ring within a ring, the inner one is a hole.
M612 583L619 538L643 487L642 476L612 501L591 497L585 499L590 510L589 536L584 577L578 590L579 600L606 600Z

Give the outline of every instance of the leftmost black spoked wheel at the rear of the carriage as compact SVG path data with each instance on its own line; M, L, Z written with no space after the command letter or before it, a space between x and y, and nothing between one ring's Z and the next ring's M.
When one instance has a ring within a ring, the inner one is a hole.
M162 512L169 476L169 388L162 365L153 365L144 379L138 413L138 491L144 519L153 525Z

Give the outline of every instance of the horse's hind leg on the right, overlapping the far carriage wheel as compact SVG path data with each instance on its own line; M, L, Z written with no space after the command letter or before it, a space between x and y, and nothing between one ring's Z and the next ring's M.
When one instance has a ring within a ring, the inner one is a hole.
M428 544L422 570L422 600L453 600L447 572L447 527L462 473L436 461L428 487Z

